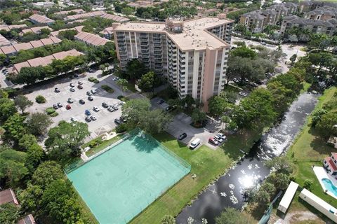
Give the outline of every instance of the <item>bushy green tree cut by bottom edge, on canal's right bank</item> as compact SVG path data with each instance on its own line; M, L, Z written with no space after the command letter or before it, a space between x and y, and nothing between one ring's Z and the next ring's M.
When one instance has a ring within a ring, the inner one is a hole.
M216 217L216 224L253 224L256 221L251 216L241 213L239 210L226 207L220 216Z

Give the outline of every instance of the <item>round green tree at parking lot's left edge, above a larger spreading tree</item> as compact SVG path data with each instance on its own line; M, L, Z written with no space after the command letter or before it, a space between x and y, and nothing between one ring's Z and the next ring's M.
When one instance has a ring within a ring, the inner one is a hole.
M27 129L35 136L46 134L48 127L53 123L46 113L32 113L26 121Z

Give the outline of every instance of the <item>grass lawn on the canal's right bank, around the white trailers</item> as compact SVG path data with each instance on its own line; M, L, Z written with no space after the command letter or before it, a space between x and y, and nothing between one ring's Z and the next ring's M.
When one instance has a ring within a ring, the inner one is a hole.
M319 98L316 109L321 108L323 104L328 102L336 91L336 87L331 87L329 90L326 90L322 97ZM337 200L323 192L323 189L311 168L312 165L322 166L323 158L336 150L327 146L326 139L319 137L317 131L310 127L311 119L312 117L308 116L307 124L303 127L302 132L298 134L298 137L294 141L293 146L289 149L287 156L295 165L295 172L293 174L296 179L295 181L303 187L303 183L306 179L312 180L312 193L321 197L322 200L325 200L333 207L337 207ZM297 194L296 197L294 197L288 212L307 209L312 210L313 208L305 202L300 202ZM318 211L315 211L315 214L317 213Z

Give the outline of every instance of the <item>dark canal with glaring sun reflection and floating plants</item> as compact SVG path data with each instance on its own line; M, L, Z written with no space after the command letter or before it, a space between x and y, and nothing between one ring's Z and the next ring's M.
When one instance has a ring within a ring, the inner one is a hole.
M317 95L300 94L279 125L264 134L251 148L249 155L239 160L236 166L206 188L197 200L185 207L176 218L177 223L185 224L187 218L192 217L195 224L201 223L201 218L213 224L214 218L225 207L242 209L244 189L258 185L270 174L270 169L263 165L263 161L279 156L289 148L316 103Z

